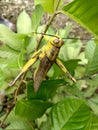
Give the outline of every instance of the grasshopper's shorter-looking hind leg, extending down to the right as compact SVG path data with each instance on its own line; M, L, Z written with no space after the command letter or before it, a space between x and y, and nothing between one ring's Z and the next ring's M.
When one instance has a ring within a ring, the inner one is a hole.
M59 59L56 59L55 63L61 68L61 70L68 76L69 79L71 79L73 82L76 82L76 80L71 76L71 74Z

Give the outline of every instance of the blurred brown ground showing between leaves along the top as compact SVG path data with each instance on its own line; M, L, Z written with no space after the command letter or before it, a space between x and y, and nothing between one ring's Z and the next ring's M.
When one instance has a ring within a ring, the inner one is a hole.
M64 3L67 4L70 1L72 0L65 0ZM34 11L34 0L0 0L0 17L9 20L13 24L16 24L18 15L24 9L29 15L31 15ZM49 14L45 13L41 24L45 24L48 18ZM65 15L57 15L52 23L52 26L58 30L59 28L64 28L67 22L72 23L72 28L69 34L70 37L91 37L85 29Z

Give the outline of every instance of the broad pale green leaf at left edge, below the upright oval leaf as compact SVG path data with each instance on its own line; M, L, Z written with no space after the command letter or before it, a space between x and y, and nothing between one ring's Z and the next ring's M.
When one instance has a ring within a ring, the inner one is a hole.
M16 34L9 30L6 26L0 24L0 40L12 49L20 50L22 44L24 43L24 38L24 35Z

